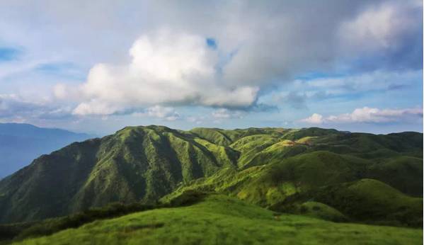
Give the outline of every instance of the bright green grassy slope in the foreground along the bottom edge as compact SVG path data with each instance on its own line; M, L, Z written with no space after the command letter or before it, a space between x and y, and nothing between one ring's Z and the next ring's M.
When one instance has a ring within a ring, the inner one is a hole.
M137 212L18 244L422 244L419 229L282 215L224 195Z

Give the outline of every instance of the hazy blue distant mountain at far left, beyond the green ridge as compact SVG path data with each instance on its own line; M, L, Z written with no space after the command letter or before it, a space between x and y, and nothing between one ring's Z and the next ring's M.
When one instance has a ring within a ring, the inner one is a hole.
M0 123L0 178L47 154L90 135L35 127L24 123Z

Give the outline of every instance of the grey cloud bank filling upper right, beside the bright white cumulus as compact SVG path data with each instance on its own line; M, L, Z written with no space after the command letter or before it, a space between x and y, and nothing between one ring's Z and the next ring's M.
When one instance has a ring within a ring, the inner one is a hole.
M227 81L265 86L311 71L419 69L423 11L417 3L158 1L154 6L173 16L178 28L213 36L219 47L234 51L223 67ZM201 16L205 9L210 15ZM375 64L362 67L362 59Z

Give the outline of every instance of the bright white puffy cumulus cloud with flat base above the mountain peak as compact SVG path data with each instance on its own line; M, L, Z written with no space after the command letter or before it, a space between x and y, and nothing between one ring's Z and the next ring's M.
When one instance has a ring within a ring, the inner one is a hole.
M255 86L227 86L217 78L217 52L199 35L159 30L130 49L130 64L96 64L79 87L76 115L110 115L129 107L190 104L245 107L256 101ZM63 97L67 89L56 88Z

